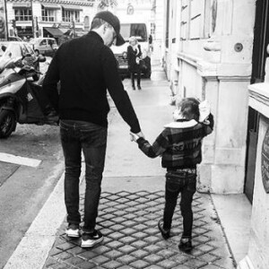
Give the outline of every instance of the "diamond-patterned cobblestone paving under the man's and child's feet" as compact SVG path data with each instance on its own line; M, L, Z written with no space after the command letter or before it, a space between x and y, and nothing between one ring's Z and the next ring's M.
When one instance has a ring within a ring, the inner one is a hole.
M57 232L43 269L234 269L221 225L214 215L210 195L194 197L194 249L178 250L182 217L176 210L171 237L164 240L157 228L162 217L164 192L103 193L97 229L105 236L100 245L80 247L81 239L65 236L66 222ZM83 196L81 196L81 208ZM81 213L82 210L81 210Z

